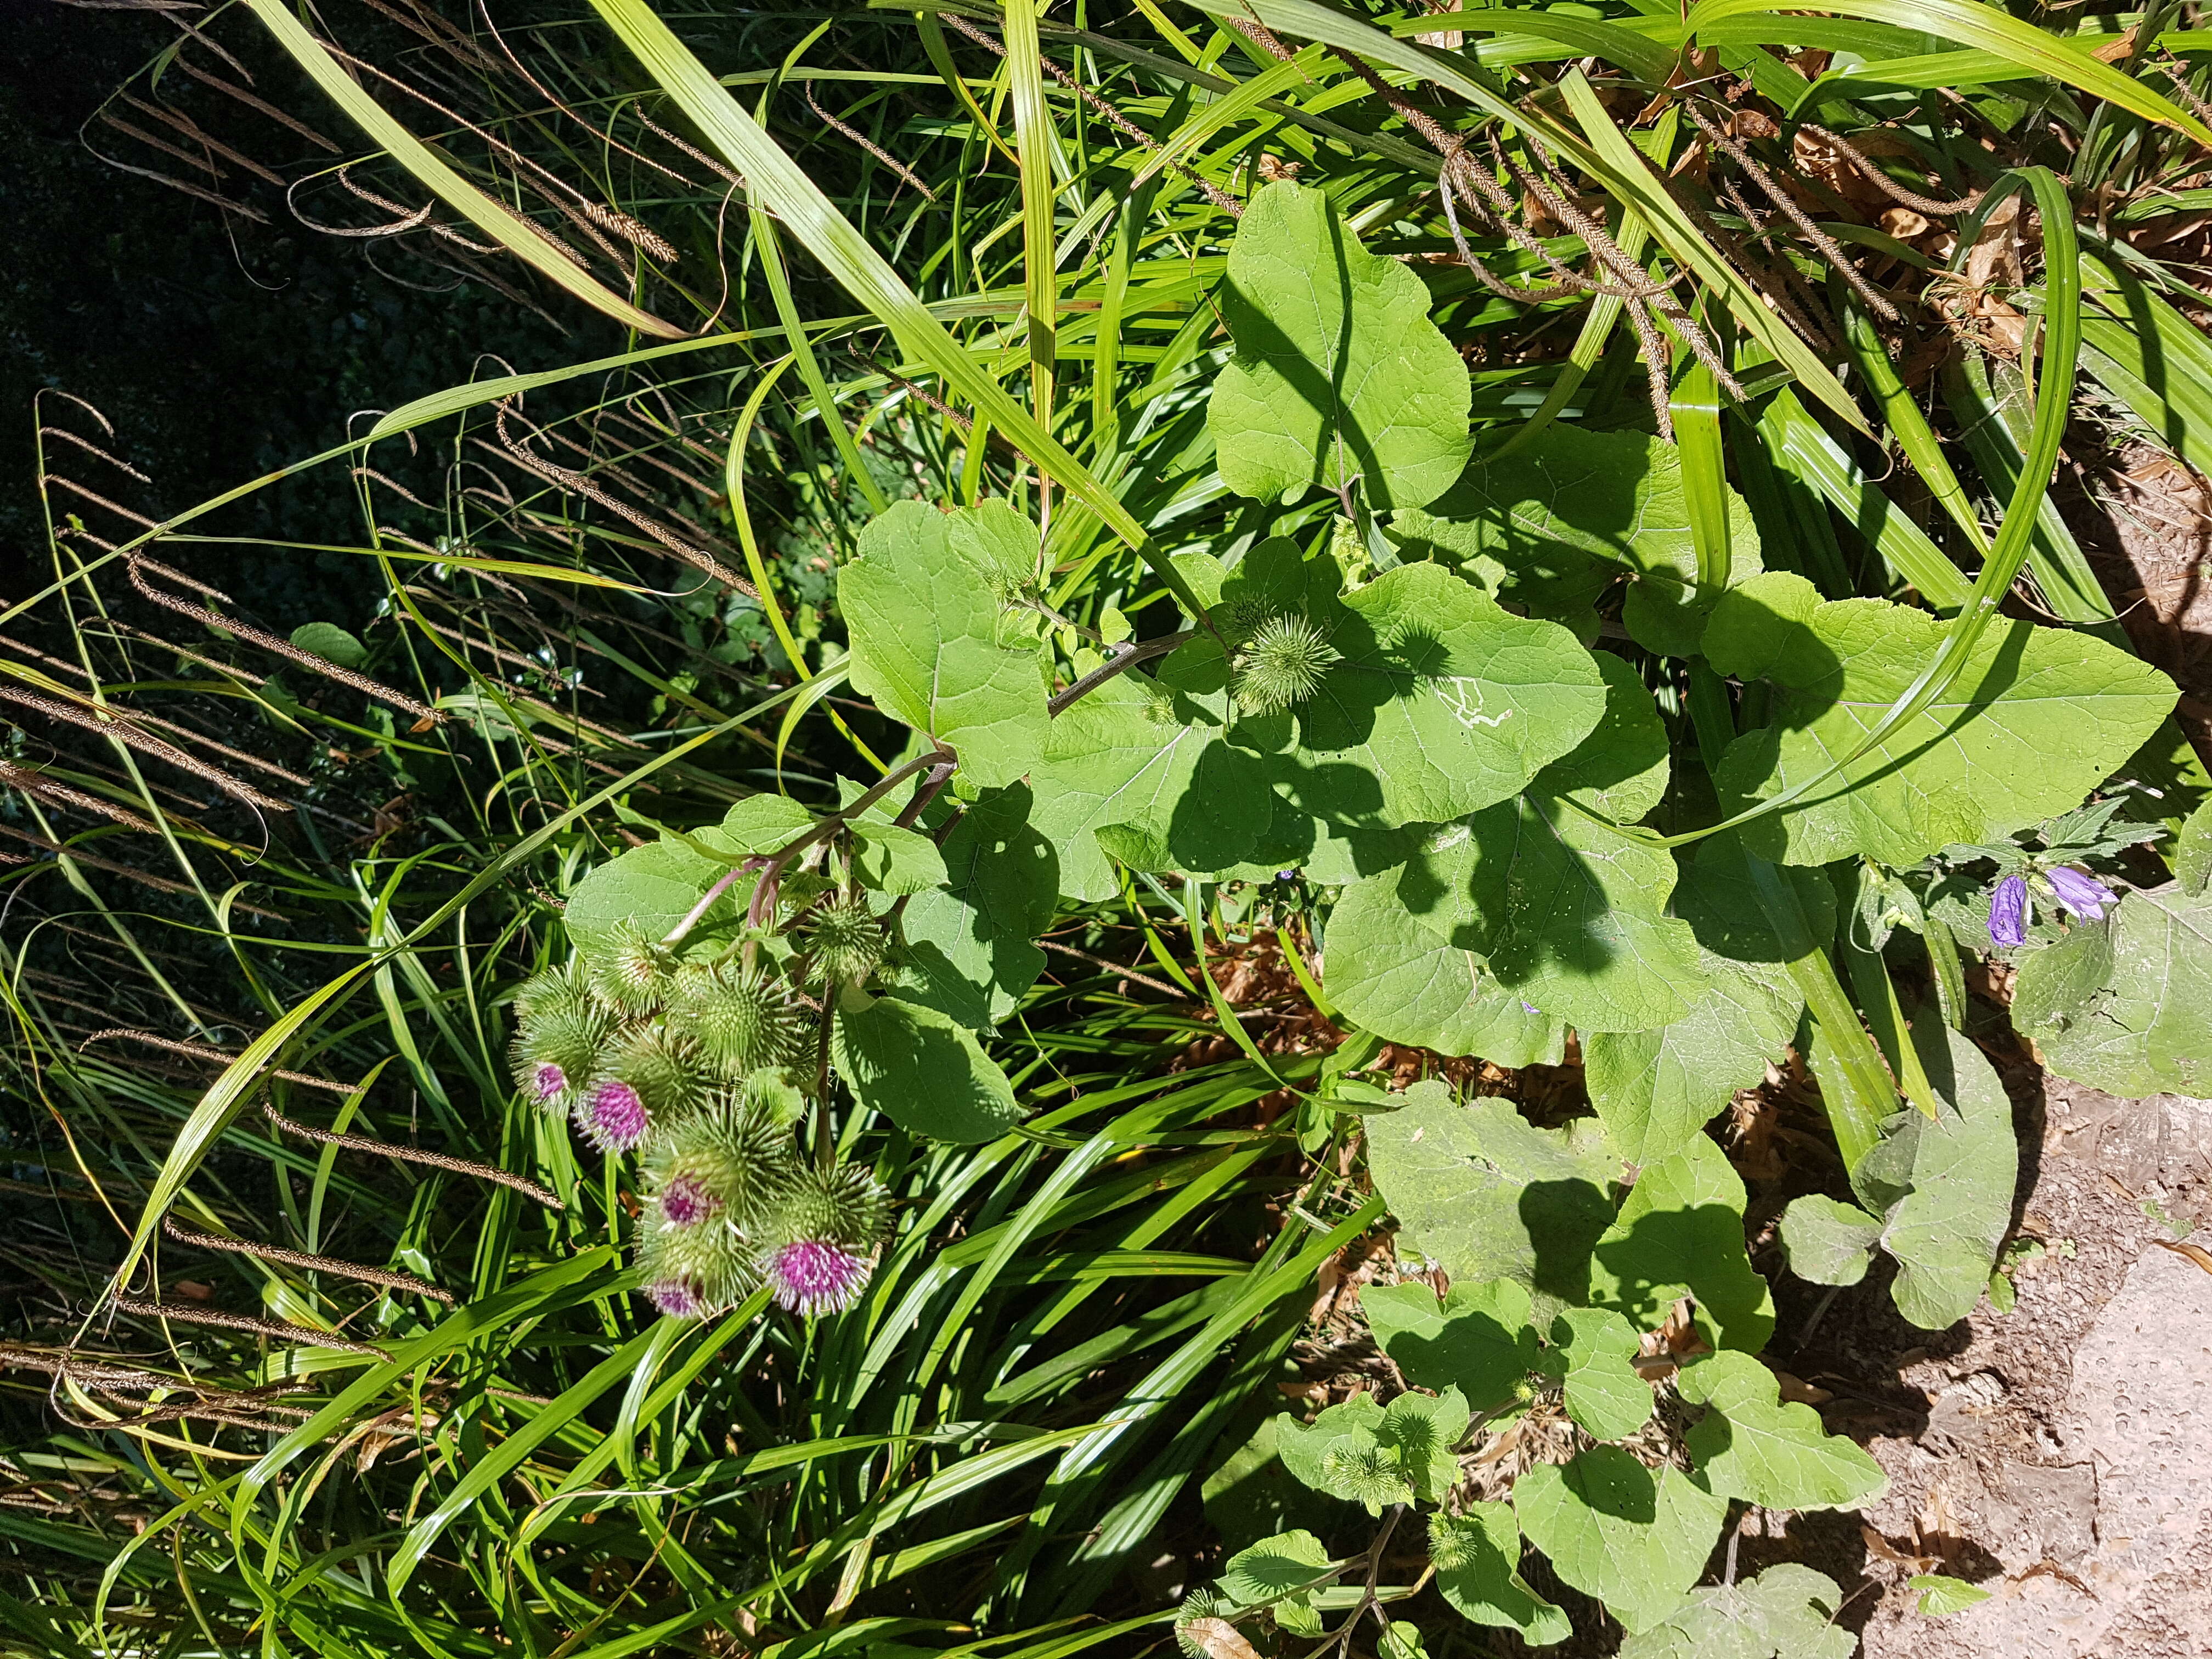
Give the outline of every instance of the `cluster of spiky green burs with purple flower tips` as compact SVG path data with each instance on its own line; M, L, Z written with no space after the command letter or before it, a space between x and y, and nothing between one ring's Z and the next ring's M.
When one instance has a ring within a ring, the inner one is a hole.
M794 969L865 980L883 929L854 900L810 914ZM768 1285L801 1314L841 1312L867 1283L889 1203L852 1164L803 1157L816 1013L768 964L679 962L639 929L515 998L515 1079L604 1152L637 1152L637 1267L664 1314L699 1318Z

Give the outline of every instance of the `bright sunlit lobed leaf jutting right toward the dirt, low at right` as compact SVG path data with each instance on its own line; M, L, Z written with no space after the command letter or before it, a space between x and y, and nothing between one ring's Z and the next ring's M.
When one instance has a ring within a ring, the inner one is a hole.
M1690 1425L1697 1478L1721 1498L1765 1509L1843 1509L1889 1486L1867 1451L1820 1427L1809 1405L1783 1405L1774 1371L1750 1354L1705 1354L1677 1389L1708 1407Z

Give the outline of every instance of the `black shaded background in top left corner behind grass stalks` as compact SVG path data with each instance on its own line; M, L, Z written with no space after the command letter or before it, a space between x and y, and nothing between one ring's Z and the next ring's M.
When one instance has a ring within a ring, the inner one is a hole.
M292 221L270 186L250 186L270 215L259 226L95 157L80 128L175 40L175 24L148 13L0 0L0 604L49 571L31 409L40 387L73 392L115 422L115 451L153 478L131 504L161 515L343 442L352 411L467 380L480 352L529 369L619 349L613 325L580 307L564 334L480 285L425 294L389 281L363 243ZM221 40L239 51L254 35L230 27ZM361 144L274 53L246 62L272 104ZM102 126L88 137L133 164L159 159ZM361 540L338 469L259 491L217 524ZM336 553L199 549L195 566L272 617L358 613L383 591L374 564Z

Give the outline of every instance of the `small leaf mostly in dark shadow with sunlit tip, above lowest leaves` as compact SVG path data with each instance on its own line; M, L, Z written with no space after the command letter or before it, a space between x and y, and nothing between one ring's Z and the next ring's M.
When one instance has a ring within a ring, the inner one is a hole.
M1703 1135L1652 1164L1597 1241L1586 1301L1659 1329L1679 1296L1714 1347L1756 1354L1774 1334L1774 1294L1743 1250L1743 1177Z

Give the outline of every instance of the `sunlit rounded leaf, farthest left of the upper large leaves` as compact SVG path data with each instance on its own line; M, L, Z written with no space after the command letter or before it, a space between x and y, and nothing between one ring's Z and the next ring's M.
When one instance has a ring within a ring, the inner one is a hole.
M1044 752L1051 717L1033 644L1000 644L1002 597L1035 580L1015 568L1013 531L1037 544L1011 507L958 513L894 502L860 531L836 593L852 630L852 686L960 754L980 787L1020 779Z

